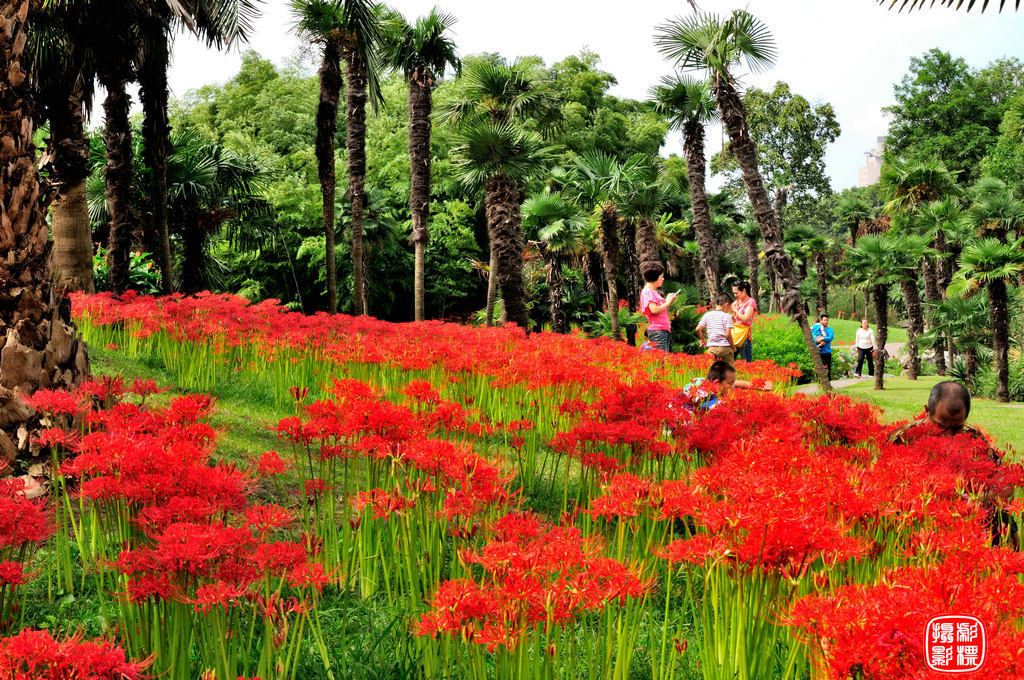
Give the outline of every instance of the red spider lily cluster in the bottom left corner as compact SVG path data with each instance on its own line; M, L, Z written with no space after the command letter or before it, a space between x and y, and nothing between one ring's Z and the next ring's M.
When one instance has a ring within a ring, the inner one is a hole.
M109 642L57 640L47 631L24 630L0 639L0 677L5 680L142 680L146 666L128 661L123 649Z

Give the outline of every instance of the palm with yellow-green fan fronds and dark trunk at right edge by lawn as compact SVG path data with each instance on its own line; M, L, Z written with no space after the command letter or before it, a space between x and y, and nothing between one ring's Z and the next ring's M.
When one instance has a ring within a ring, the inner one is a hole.
M961 267L949 285L955 297L973 295L980 288L988 293L992 315L992 351L995 353L995 398L1010 400L1010 295L1009 285L1024 272L1024 239L1004 243L986 237L964 248Z

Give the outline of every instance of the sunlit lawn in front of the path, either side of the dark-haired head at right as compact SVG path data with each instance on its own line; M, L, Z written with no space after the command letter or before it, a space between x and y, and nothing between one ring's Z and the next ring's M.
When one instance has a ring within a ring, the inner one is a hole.
M925 410L928 393L941 380L944 378L936 376L918 380L887 377L886 388L882 391L874 390L871 380L858 382L840 391L880 407L886 420L905 420ZM998 403L976 398L972 400L968 422L991 434L1000 447L1013 449L1017 455L1024 453L1024 403Z

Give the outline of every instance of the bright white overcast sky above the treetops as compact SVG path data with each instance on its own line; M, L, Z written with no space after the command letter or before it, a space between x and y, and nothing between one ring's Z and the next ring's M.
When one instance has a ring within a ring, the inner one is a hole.
M997 5L998 0L992 0ZM588 47L602 58L601 68L614 74L614 94L645 96L670 71L655 51L651 36L666 18L690 11L686 0L391 0L409 17L437 4L459 18L456 40L464 54L500 52L507 57L538 54L550 65ZM770 87L790 83L812 101L831 102L843 133L830 146L827 171L837 190L857 181L864 152L886 131L882 108L892 102L893 84L906 72L909 58L942 47L982 66L999 56L1024 58L1024 11L967 14L943 7L899 14L874 0L698 0L708 11L745 7L762 18L778 43L776 67L744 79ZM263 16L250 46L282 63L293 56L299 41L291 34L288 0L264 0ZM179 37L170 74L172 94L212 82L224 82L238 71L240 50L208 50L194 39ZM711 133L711 148L720 133ZM678 152L670 140L668 152Z

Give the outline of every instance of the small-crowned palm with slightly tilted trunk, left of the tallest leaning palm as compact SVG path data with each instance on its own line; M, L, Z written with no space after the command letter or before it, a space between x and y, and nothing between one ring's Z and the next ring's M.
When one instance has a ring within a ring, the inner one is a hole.
M708 83L682 76L669 76L651 91L654 108L669 119L670 125L683 133L683 152L690 184L693 232L700 246L700 263L708 283L710 299L718 297L721 275L718 270L718 243L711 228L711 209L705 186L705 126L718 118L715 99Z

